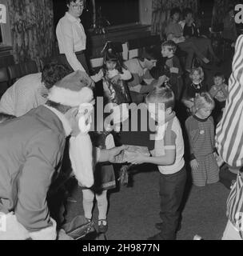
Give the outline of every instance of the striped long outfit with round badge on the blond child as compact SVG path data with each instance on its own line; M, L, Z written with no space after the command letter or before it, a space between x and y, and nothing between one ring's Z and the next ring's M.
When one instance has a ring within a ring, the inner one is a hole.
M196 159L198 163L197 171L192 170L193 184L205 186L218 182L219 168L213 155L213 118L200 119L190 116L185 121L185 127L189 137L190 160Z

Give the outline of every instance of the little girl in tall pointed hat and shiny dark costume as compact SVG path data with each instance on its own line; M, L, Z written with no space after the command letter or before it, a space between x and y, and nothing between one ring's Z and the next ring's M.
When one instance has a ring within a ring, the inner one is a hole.
M106 43L103 52L105 52L103 68L91 78L94 82L103 80L106 103L112 102L120 105L129 102L129 94L124 81L131 79L132 75L122 66L120 56L111 42Z

